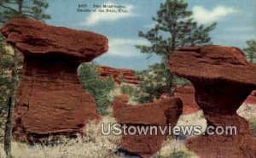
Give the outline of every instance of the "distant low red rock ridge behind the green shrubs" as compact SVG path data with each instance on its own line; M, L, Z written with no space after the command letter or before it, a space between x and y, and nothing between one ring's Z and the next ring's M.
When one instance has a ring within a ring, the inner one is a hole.
M114 69L108 66L99 66L98 71L103 78L113 76L113 79L117 83L125 82L131 84L139 84L140 81L135 76L135 71L128 69Z

